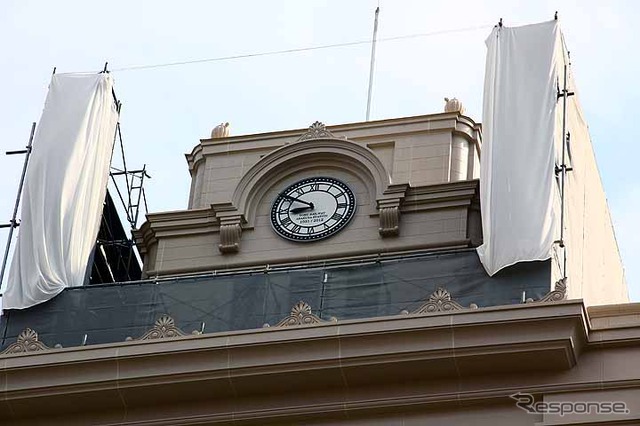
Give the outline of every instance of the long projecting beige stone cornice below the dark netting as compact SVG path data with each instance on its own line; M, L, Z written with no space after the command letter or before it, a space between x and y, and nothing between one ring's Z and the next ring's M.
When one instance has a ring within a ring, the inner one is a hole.
M62 401L82 398L83 410L111 407L121 421L144 406L140 404L166 407L187 398L190 404L208 401L209 411L202 415L211 422L282 418L301 409L316 414L344 409L347 390L349 410L355 411L506 397L508 383L476 390L461 389L458 383L477 374L500 377L536 370L536 375L527 376L530 383L518 382L520 387L535 386L537 377L537 386L552 387L544 374L571 369L587 345L587 333L582 303L569 301L6 355L0 357L0 419L11 419L11 413L20 417L16 413L35 397L39 406L49 407L40 413L47 418L65 414L69 404ZM372 374L375 371L384 374ZM451 389L392 392L374 399L359 390L365 384L391 389L409 379L446 380ZM275 407L257 408L255 398L261 392L284 400ZM323 403L314 400L317 392L325 392ZM295 404L287 402L293 394ZM305 403L305 398L311 399ZM132 416L122 424L193 424L189 421L194 420L194 406L190 407L182 414L173 412L173 417L161 413L163 420L157 422Z

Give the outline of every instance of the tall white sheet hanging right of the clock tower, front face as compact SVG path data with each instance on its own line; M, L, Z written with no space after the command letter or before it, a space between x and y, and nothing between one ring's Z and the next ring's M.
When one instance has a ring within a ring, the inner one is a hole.
M493 275L549 259L559 238L554 135L564 53L557 21L496 27L486 43L478 254Z

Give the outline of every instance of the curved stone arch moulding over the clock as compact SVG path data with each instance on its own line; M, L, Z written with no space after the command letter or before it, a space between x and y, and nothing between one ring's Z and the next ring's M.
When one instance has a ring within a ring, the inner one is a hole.
M346 139L303 139L265 155L238 183L232 204L251 223L262 195L275 183L307 169L343 169L364 182L372 199L382 196L391 184L389 173L368 148Z

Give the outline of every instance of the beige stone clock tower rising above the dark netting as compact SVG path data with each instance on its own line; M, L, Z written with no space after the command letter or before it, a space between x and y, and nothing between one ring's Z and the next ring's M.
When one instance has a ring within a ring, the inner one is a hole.
M480 145L458 112L203 139L189 210L138 233L145 274L474 247Z

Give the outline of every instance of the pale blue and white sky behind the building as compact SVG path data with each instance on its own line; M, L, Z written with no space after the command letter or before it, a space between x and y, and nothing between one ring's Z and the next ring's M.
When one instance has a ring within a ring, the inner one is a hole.
M379 37L437 33L378 45L372 119L440 112L456 96L481 121L491 26L553 18L573 71L631 298L640 301L640 2L628 1L0 1L0 149L19 149L39 120L58 72L216 58L367 40L380 5ZM481 27L481 28L478 28ZM147 70L114 71L130 167L146 163L151 211L187 206L183 154L222 122L231 134L364 120L370 46ZM22 158L0 156L0 221L8 221ZM8 232L0 230L0 244ZM607 283L602 283L606 285Z

